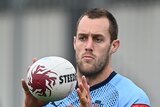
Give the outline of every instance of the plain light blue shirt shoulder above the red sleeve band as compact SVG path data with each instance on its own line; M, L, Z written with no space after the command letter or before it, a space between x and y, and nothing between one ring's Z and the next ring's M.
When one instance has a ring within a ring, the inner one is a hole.
M119 93L119 102L130 104L148 104L150 101L142 88L137 86L133 81L125 76L117 73L116 76L110 81L116 87Z

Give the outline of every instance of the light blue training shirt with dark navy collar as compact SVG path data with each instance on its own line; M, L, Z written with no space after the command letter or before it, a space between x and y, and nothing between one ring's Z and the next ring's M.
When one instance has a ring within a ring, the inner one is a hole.
M90 87L92 107L132 107L134 104L150 107L150 101L145 92L128 78L112 72L103 82ZM80 106L76 89L66 98L50 102L45 107Z

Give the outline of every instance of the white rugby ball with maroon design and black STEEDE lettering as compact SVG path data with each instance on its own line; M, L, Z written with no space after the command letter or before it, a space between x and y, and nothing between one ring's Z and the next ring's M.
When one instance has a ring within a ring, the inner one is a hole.
M27 85L31 94L39 100L61 100L75 88L76 70L62 57L44 57L29 68Z

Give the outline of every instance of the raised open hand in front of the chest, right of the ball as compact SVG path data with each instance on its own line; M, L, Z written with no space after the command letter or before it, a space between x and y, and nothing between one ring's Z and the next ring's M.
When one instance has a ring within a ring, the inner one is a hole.
M81 102L80 107L92 107L89 85L85 76L82 76L82 82L78 84L77 93Z

